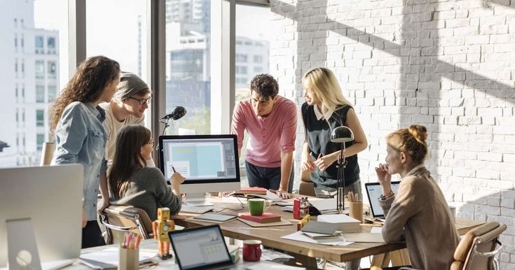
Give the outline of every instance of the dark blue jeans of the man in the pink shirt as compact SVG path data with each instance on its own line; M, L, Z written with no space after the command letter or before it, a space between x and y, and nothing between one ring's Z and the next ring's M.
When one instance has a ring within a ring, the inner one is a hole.
M249 187L264 187L267 190L278 190L281 183L281 167L267 168L256 166L245 161L245 170L247 171L247 180ZM291 166L289 175L288 192L291 193L294 187L294 168Z

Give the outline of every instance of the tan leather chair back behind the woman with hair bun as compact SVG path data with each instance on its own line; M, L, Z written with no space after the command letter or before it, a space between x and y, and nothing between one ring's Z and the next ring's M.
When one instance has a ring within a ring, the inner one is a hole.
M495 255L502 248L499 236L506 227L492 221L467 232L456 247L451 270L499 269Z

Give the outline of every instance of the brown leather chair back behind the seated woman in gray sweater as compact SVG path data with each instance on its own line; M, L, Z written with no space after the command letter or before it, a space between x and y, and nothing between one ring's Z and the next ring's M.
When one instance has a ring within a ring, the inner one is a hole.
M107 244L115 243L116 239L122 239L125 232L134 232L141 235L143 239L153 237L152 221L142 208L110 205L104 209L104 215L99 218L106 227L104 239Z

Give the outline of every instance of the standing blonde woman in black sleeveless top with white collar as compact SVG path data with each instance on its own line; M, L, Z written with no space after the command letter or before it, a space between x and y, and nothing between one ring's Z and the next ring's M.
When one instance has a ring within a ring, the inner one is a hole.
M345 126L354 133L354 141L345 143L344 194L355 192L362 200L357 153L366 149L366 136L350 102L343 97L334 73L326 68L308 71L302 78L306 102L301 113L305 129L302 170L310 173L317 197L334 197L338 180L341 143L331 142L331 131ZM345 269L359 269L359 261L345 262Z

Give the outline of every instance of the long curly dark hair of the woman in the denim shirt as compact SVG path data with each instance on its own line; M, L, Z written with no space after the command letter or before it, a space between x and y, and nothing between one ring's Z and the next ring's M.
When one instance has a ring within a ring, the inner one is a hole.
M120 64L104 56L85 59L50 106L50 132L55 131L64 108L74 101L97 101L105 87L120 75Z

